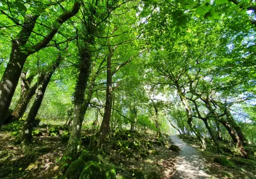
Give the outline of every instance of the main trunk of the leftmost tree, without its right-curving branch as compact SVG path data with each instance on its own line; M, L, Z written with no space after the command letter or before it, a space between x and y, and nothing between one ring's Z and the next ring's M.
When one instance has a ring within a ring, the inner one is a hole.
M18 35L12 40L12 51L10 61L8 62L3 77L0 82L0 128L2 127L6 114L10 107L14 91L19 82L19 77L28 52L22 51L21 47L28 42L28 38L35 27L35 22L38 16L26 15L24 26Z

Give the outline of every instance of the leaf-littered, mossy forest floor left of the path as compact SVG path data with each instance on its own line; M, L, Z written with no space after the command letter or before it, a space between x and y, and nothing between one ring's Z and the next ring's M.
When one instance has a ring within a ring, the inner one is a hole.
M3 126L0 131L0 178L54 178L58 161L67 147L67 128L62 123L48 121L48 130L45 124L35 127L32 144L22 148L15 143L21 127L18 121ZM80 153L88 149L94 133L92 129L82 128ZM157 138L154 134L116 130L106 140L101 162L116 166L116 178L134 175L134 169L146 178L152 171L161 178L170 178L179 155L169 149L171 144L167 135Z

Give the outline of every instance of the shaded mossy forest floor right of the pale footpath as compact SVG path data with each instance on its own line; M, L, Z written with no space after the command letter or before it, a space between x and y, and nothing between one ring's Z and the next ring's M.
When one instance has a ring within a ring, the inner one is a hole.
M179 136L183 141L189 145L198 148L200 146L195 137ZM206 139L207 150L202 151L205 164L209 173L214 178L241 178L241 179L255 179L256 178L256 160L255 159L243 159L241 158L234 146L227 141L220 142L222 153L216 153L216 146L213 141ZM214 162L214 159L223 157L227 159L227 164L219 164Z

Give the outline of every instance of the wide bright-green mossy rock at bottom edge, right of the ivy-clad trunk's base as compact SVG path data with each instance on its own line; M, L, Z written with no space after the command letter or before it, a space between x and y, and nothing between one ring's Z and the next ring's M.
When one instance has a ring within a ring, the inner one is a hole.
M115 167L90 161L84 167L79 179L115 179Z

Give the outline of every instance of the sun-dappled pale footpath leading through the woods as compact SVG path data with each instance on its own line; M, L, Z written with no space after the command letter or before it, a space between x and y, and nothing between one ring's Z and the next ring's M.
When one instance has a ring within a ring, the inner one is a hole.
M174 179L205 179L211 178L211 175L207 174L207 169L204 167L204 160L202 153L195 148L184 143L177 136L170 136L173 143L179 146L181 152L177 157L175 164L176 171L172 178Z

